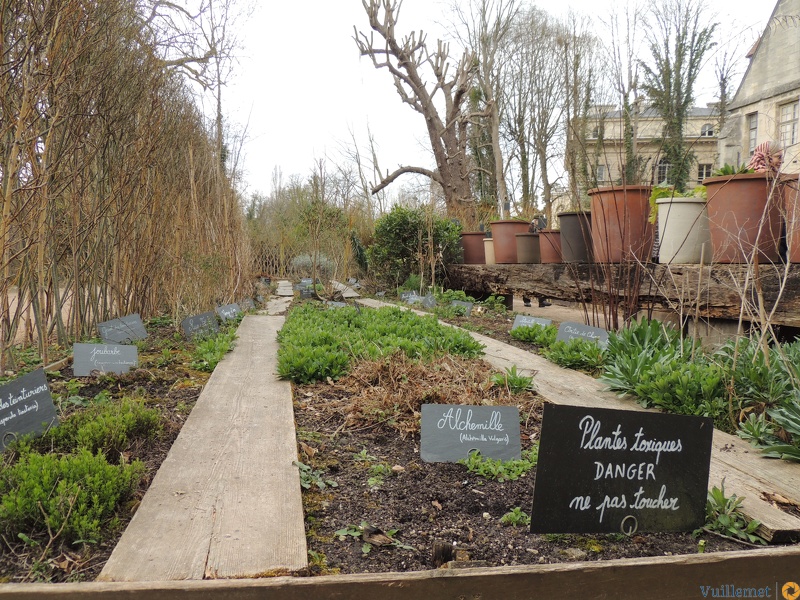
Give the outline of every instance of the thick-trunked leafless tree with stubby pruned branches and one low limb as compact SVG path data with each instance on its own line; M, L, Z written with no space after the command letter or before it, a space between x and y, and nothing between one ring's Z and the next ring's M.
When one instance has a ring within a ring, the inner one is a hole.
M370 57L375 68L385 68L391 73L400 98L425 119L437 167L434 171L418 166L400 166L383 175L373 186L372 193L381 191L401 175L424 175L442 186L448 212L467 224L473 224L475 203L469 182L469 116L465 103L474 79L474 56L465 52L451 75L449 44L437 40L436 49L431 51L422 31L398 36L399 0L362 0L362 5L372 32L367 35L354 28L359 52ZM443 114L437 102L444 105Z

